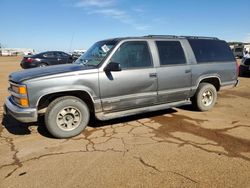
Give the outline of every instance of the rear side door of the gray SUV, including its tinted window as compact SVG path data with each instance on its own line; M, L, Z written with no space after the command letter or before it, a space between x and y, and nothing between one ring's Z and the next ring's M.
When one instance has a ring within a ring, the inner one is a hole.
M192 72L180 41L155 41L159 54L158 102L185 100L191 92Z

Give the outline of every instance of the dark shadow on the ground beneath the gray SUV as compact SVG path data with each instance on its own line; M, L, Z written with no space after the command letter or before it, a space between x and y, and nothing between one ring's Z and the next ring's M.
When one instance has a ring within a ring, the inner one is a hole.
M177 112L177 110L171 108L171 109L160 110L160 111L155 111L155 112L143 113L143 114L139 114L139 115L127 116L127 117L123 117L123 118L106 120L106 121L97 120L94 117L94 115L92 115L88 126L92 127L92 128L99 128L99 127L105 127L105 126L118 124L118 123L137 121L139 119L144 119L144 118L153 118L156 116L162 116L164 114L172 114L172 113L176 113L176 112ZM32 134L32 132L36 132L36 130L37 130L37 132L44 137L54 138L46 129L43 116L39 117L38 121L34 122L34 123L21 123L21 122L15 120L10 115L3 115L2 125L6 128L6 130L10 134L30 135L30 134ZM33 127L35 127L35 129Z

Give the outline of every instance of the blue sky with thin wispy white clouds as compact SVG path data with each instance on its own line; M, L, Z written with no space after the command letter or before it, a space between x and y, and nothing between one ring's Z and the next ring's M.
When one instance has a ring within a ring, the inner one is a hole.
M250 42L249 0L0 0L0 18L3 47L37 52L149 34Z

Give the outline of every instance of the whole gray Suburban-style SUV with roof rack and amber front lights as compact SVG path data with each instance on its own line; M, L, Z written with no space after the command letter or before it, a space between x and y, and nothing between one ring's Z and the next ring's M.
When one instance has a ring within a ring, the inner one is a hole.
M217 38L108 39L74 64L12 73L5 113L21 122L44 115L48 131L67 138L84 130L91 113L108 120L190 103L210 110L219 90L238 84L237 71Z

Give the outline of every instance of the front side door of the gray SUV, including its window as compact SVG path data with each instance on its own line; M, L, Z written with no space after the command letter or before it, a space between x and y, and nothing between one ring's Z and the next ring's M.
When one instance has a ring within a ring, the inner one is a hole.
M157 77L146 41L127 41L109 62L120 63L121 71L99 72L104 112L149 106L157 100Z

